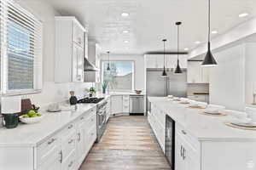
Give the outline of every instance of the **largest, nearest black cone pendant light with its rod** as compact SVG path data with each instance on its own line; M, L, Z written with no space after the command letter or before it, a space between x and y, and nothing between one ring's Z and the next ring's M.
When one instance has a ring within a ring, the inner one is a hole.
M202 62L202 66L215 66L218 65L211 52L211 0L208 1L208 43L207 55Z

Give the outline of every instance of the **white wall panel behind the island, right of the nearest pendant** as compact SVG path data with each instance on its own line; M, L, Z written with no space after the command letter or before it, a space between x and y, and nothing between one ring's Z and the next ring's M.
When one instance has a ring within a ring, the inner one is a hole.
M242 111L245 104L245 45L213 54L218 66L210 71L210 103Z

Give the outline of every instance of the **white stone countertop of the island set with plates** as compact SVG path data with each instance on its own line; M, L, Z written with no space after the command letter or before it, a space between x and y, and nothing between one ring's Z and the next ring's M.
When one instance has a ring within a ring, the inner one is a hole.
M184 127L201 141L255 141L256 131L229 127L224 124L231 116L201 115L199 109L189 108L163 97L148 97L148 100Z

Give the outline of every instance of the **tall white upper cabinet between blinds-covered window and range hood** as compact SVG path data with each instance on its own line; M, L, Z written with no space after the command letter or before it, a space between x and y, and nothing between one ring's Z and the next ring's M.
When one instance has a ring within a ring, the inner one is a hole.
M55 82L84 82L87 32L74 17L55 17Z

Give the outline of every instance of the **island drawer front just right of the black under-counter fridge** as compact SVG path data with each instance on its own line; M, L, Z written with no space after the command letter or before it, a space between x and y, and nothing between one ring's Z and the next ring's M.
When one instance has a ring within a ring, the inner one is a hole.
M196 150L201 149L201 143L177 123L176 123L176 133L178 133L188 144L195 147Z

